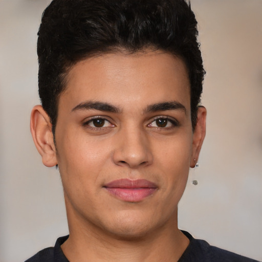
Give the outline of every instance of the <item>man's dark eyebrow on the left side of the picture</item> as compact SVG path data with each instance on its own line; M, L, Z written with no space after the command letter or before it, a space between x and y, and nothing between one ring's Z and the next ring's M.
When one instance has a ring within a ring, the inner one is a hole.
M105 111L105 112L111 112L111 113L120 113L120 110L118 107L111 105L106 102L99 102L99 101L85 101L77 106L75 106L71 112L78 111L78 110L99 110L99 111Z

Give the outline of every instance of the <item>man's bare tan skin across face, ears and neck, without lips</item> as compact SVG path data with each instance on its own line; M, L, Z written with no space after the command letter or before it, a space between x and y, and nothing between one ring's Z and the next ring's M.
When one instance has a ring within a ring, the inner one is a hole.
M90 108L90 101L115 112ZM166 102L179 106L152 111ZM58 164L61 174L70 230L62 250L71 262L180 258L189 240L178 229L177 207L205 119L200 107L193 132L185 64L160 51L104 54L74 65L59 98L56 146L48 115L33 108L31 132L42 162ZM146 179L157 190L123 201L104 188L118 179Z

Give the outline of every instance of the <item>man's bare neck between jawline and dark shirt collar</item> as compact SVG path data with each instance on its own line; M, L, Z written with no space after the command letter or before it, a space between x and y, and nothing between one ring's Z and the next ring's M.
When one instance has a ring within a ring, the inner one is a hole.
M132 237L108 233L67 213L70 236L61 248L70 262L178 261L189 244L178 229L177 210L164 225Z

